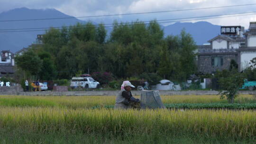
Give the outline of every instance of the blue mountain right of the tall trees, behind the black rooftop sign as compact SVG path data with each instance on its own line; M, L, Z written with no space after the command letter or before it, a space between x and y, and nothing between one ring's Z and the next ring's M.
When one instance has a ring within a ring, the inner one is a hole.
M209 22L200 21L196 23L180 23L164 27L165 36L179 35L182 29L190 33L197 45L207 43L208 40L220 34L220 26L212 25Z

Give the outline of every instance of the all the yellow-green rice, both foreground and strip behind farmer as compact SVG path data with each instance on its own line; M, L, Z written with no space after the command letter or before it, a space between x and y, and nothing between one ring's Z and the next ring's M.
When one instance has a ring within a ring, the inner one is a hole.
M161 96L165 104L227 103L219 96ZM242 95L236 102L253 102ZM115 96L0 96L0 144L255 144L254 110L91 109ZM11 136L10 136L11 135Z

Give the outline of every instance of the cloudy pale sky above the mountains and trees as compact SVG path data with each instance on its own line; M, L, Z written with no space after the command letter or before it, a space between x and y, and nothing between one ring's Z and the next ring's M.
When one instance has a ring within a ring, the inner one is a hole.
M176 9L207 8L253 3L256 3L256 0L0 0L0 13L3 11L8 11L10 9L21 7L27 7L29 9L54 8L67 15L81 17L94 15L165 11ZM132 16L115 16L90 19L87 18L82 20L91 20L97 23L103 22L106 24L112 23L113 20L127 22L139 19L142 21L146 21L152 19L160 20L250 12L256 11L255 8L256 5L251 5L233 8L202 9L192 11L177 11L157 14L141 14ZM240 25L248 28L250 21L256 21L256 15L207 19L203 21L208 21L212 24L221 26Z

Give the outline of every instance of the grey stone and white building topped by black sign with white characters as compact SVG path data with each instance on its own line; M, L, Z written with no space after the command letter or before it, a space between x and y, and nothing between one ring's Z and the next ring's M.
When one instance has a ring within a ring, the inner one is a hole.
M252 24L250 23L251 29ZM242 61L245 61L245 58L251 59L255 54L247 48L247 44L256 47L256 39L254 40L253 37L253 35L256 36L256 33L253 34L248 31L245 33L244 27L241 26L220 27L220 33L221 35L208 41L210 45L198 45L199 72L206 74L229 69L232 60L238 63L239 70L242 71L244 68ZM247 35L250 35L251 38L248 39Z

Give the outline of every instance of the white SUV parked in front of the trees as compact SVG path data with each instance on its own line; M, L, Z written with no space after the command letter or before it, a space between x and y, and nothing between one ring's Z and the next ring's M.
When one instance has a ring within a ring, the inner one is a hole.
M70 86L71 88L96 89L100 87L100 82L95 81L91 77L73 77Z

